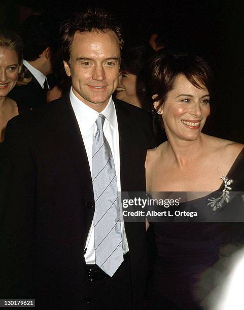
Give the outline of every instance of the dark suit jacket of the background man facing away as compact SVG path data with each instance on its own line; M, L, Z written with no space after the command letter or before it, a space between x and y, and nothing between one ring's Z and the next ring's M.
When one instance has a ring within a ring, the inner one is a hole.
M31 76L32 80L26 85L16 85L8 94L8 97L29 108L37 108L47 102L46 94L37 79L26 67L24 68L25 76L28 78Z

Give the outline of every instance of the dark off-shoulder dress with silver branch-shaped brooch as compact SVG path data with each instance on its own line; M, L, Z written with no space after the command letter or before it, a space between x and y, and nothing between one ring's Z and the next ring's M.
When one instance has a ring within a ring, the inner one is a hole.
M244 191L244 149L226 177L233 180L232 191ZM218 191L188 202L188 210L206 208L214 217L222 216L223 212L231 215L235 212L231 203L218 212L207 206L208 199L217 192L221 195L224 188L223 182ZM202 275L219 261L222 246L242 243L244 239L243 200L238 195L235 199L240 201L238 208L243 208L242 222L194 222L194 219L192 222L150 222L157 259L148 283L148 309L202 309L202 300L214 288L213 283L205 283L204 288L200 286ZM186 206L183 203L180 207L185 210Z

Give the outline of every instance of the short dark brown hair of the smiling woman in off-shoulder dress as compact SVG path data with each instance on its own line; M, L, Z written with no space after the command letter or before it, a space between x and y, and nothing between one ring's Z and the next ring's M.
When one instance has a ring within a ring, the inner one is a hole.
M150 96L156 94L157 97L153 101L160 102L157 110L165 102L168 92L173 89L179 74L184 74L196 88L206 88L210 94L212 93L213 72L203 58L161 50L151 59L148 80Z

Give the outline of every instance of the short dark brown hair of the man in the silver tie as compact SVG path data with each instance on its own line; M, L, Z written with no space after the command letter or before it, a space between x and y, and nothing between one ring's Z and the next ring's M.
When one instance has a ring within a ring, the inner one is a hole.
M116 22L114 17L102 9L88 9L83 13L78 13L72 18L64 21L60 28L61 50L63 60L69 61L70 48L74 40L75 33L101 31L114 31L118 37L120 50L122 50L124 41L122 38L121 26Z

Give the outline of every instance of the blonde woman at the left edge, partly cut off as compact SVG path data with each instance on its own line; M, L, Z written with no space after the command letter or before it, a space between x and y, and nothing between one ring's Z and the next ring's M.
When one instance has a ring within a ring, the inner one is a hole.
M0 31L0 142L4 141L5 128L10 119L27 108L7 97L13 87L28 83L22 69L21 38L9 31Z

